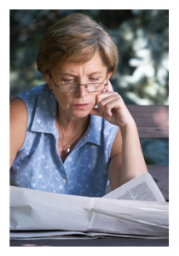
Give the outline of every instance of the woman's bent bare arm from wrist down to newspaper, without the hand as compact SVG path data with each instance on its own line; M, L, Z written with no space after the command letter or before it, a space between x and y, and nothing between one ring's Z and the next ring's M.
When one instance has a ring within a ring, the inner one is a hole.
M108 177L112 190L147 172L135 123L129 131L118 130L110 159Z

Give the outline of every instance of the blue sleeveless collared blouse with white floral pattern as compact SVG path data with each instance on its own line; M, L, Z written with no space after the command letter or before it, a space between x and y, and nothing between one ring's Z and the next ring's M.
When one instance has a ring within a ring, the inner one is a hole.
M57 152L57 102L49 85L26 90L17 97L26 103L28 121L25 142L10 168L11 184L68 195L105 195L118 126L91 115L87 131L63 163Z

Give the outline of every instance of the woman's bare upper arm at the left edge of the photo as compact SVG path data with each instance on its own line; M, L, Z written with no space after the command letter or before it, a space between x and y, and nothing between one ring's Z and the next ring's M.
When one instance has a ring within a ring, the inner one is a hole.
M10 101L10 157L9 167L12 166L18 150L26 137L27 110L26 104L20 98Z

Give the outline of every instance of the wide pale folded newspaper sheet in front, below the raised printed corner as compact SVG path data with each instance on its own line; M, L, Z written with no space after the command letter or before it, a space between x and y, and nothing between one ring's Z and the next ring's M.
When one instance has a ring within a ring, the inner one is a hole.
M168 203L57 195L11 186L10 229L168 236Z

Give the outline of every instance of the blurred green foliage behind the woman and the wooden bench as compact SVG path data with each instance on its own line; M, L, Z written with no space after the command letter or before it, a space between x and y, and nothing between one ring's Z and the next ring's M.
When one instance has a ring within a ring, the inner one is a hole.
M118 46L113 89L126 104L168 105L169 10L14 9L10 10L10 96L44 84L36 57L44 33L58 20L84 13L107 26ZM147 164L169 164L168 139L141 139Z

